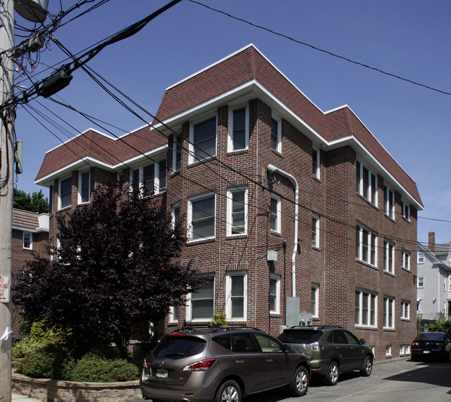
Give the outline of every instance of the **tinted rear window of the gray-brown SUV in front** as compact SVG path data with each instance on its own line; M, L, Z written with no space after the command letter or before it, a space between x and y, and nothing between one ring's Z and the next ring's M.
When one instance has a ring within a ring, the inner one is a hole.
M187 358L201 353L207 342L200 338L185 335L167 336L155 347L153 356L156 358Z

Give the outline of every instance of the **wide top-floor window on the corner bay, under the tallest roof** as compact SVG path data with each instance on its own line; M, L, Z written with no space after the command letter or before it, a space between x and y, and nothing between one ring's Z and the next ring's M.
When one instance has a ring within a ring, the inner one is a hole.
M192 125L190 163L216 155L216 116Z

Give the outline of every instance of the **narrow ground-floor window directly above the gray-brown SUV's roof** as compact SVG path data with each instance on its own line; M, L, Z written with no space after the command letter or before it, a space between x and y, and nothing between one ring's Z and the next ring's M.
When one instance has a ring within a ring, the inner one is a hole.
M233 272L226 275L226 315L228 320L246 320L247 274Z

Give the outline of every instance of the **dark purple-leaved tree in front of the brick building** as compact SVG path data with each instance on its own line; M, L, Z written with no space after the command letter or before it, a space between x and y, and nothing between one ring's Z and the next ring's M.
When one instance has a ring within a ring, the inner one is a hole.
M178 257L180 224L139 191L98 186L90 204L57 216L60 248L19 274L15 303L34 322L70 328L78 351L117 344L126 355L133 326L158 322L205 279Z

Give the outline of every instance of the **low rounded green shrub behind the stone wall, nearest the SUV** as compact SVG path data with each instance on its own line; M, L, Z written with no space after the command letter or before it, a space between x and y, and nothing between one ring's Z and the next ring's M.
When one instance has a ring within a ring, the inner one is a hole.
M71 370L69 381L89 383L115 383L119 381L134 381L139 376L137 366L124 359L110 360L95 353L87 353Z

